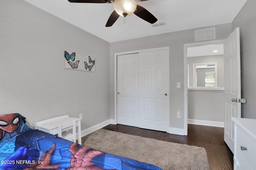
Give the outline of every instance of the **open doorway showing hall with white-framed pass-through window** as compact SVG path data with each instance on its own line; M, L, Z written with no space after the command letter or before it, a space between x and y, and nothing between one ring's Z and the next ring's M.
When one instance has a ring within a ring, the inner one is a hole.
M184 44L184 112L188 123L224 127L224 40ZM218 71L217 71L218 70ZM210 97L209 97L210 96ZM213 114L219 109L219 115ZM220 118L222 117L222 118Z

